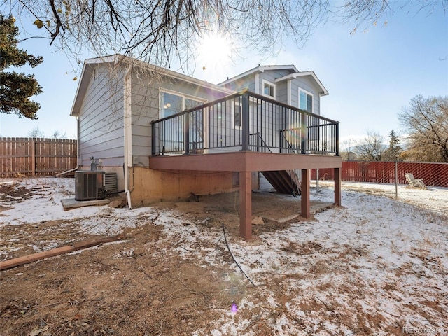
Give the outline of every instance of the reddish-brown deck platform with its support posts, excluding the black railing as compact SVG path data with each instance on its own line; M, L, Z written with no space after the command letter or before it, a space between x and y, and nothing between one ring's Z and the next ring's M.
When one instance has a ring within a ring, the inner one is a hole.
M304 218L310 216L310 169L330 168L335 175L335 204L341 205L341 167L339 156L291 155L239 151L212 154L157 155L149 158L149 167L160 170L189 170L202 172L239 172L239 221L240 235L252 237L252 172L298 169L302 172L301 210Z

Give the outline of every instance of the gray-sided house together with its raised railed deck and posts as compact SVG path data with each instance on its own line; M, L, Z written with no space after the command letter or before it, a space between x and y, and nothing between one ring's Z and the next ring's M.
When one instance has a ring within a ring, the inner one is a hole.
M310 169L335 169L340 204L339 123L319 116L325 94L314 72L295 66L258 66L214 85L122 55L87 59L71 109L78 165L94 158L116 172L130 208L239 190L250 239L258 172L301 193L307 217Z

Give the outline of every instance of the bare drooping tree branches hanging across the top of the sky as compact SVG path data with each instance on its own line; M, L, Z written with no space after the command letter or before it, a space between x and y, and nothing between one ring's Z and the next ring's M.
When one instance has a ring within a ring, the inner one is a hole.
M50 45L71 55L120 53L161 66L195 58L195 42L210 31L228 36L234 48L271 54L293 39L302 46L314 27L337 13L339 20L374 25L407 1L346 0L0 0L3 8L45 31ZM409 1L410 2L410 1ZM414 3L415 5L415 3ZM414 6L413 5L413 6ZM414 10L445 10L448 0L419 0ZM6 11L6 10L5 10Z

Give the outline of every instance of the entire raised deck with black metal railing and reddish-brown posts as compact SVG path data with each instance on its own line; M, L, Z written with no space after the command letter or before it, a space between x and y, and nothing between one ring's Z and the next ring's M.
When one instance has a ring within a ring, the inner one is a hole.
M239 172L244 239L252 235L252 172L301 170L302 216L308 218L310 169L335 169L335 204L341 204L335 120L243 90L151 125L151 169Z

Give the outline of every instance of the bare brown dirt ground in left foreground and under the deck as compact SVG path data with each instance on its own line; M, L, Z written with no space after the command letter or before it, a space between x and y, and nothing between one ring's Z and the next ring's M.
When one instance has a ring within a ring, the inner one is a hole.
M0 188L8 202L11 197L21 202L39 193L38 188ZM261 216L265 223L255 225L252 244L257 244L257 233L282 230L291 218L300 220L297 204L269 193L254 194L253 215ZM239 239L237 207L237 194L200 197L200 202L154 204L155 213L142 216L141 225L126 229L115 244L1 271L0 335L192 335L198 329L212 330L222 315L219 308L230 310L232 301L243 294L251 302L260 302L264 300L260 290L235 272L225 244L198 241L198 250L214 248L221 255L220 265L204 267L204 260L181 258L173 248L178 242L162 239L162 225L155 220L165 209L176 209L185 219L183 225L221 228L225 223L229 239ZM0 216L5 209L8 207L0 208ZM80 234L77 223L57 218L6 225L0 228L0 236L3 241L16 242L17 249L8 259L55 243L94 238ZM283 293L280 282L269 283L269 290L285 301L294 295ZM279 309L272 309L269 317L280 314ZM235 318L254 321L247 329L255 335L271 335L268 325L257 316L261 315L252 310L241 311Z

